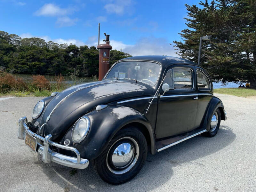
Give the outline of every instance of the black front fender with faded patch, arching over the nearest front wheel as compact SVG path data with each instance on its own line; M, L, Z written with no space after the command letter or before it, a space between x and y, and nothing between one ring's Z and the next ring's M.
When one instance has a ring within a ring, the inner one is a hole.
M152 126L148 119L139 111L125 106L111 105L99 111L93 110L87 113L86 116L89 117L91 123L88 135L81 143L73 143L73 146L71 145L71 147L75 147L80 152L82 158L92 160L98 157L116 132L130 123L143 124L147 128L150 137L151 153L156 153ZM72 127L68 130L62 142L65 139L72 141L71 130Z

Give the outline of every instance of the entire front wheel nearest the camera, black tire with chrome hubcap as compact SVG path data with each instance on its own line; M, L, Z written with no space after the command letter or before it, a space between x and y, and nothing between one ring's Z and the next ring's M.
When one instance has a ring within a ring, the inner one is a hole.
M116 133L102 154L93 160L93 166L102 180L122 184L140 172L147 152L143 133L130 126Z

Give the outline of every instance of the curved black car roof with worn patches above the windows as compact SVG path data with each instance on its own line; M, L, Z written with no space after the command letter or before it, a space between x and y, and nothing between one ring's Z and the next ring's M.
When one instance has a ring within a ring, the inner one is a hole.
M192 64L197 65L195 62L192 62L187 59L182 59L179 57L172 57L172 56L163 56L163 55L144 55L144 56L134 56L134 57L126 57L121 60L147 60L147 61L156 61L162 65L163 68L166 68L172 64Z

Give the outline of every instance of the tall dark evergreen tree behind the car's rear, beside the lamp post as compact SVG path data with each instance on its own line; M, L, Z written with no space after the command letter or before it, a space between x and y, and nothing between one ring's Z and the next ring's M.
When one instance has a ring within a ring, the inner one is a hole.
M197 62L200 36L211 35L202 42L201 64L212 78L250 82L256 87L256 0L213 0L188 10L187 29L182 41L174 41L177 53Z

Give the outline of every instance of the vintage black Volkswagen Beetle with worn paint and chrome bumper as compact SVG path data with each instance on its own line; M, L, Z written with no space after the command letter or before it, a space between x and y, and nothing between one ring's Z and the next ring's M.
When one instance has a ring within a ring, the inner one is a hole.
M176 57L136 56L117 61L102 81L53 92L32 120L19 120L18 138L43 162L85 169L89 161L106 182L121 184L152 154L226 120L204 68Z

